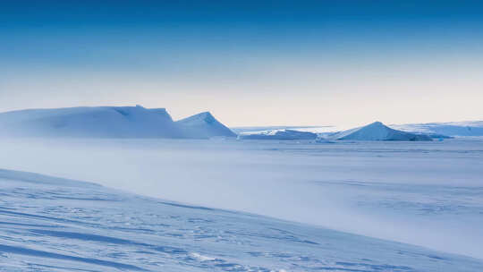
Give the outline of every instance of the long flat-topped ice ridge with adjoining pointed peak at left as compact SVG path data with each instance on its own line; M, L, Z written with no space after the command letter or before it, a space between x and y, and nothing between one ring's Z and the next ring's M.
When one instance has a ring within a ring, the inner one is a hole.
M81 106L0 114L0 135L78 138L234 137L209 113L174 122L165 108Z

